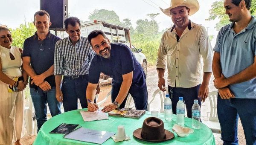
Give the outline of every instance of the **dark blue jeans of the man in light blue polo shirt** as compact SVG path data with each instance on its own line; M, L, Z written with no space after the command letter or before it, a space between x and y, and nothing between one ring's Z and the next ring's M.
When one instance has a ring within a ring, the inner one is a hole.
M221 99L218 94L217 113L223 145L238 145L238 118L244 128L247 145L256 145L256 99Z

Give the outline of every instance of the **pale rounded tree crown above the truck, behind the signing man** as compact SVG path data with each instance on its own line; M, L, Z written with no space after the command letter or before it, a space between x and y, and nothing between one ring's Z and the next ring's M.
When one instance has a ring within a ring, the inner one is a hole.
M108 11L106 9L94 9L93 13L90 13L89 20L105 20L109 23L121 25L118 15L114 11Z

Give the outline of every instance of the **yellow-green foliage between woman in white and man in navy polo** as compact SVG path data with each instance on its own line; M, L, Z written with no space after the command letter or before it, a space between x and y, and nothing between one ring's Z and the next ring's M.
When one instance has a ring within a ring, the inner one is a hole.
M23 48L25 39L34 35L36 28L33 23L28 23L28 25L26 25L25 20L25 24L20 24L19 28L14 30L10 29L10 31L13 39L12 46Z

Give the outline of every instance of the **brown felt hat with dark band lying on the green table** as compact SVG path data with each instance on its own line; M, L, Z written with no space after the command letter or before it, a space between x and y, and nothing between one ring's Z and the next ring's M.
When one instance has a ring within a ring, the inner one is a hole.
M164 129L163 121L156 117L146 118L142 128L135 130L133 135L147 142L164 142L174 138L171 131Z

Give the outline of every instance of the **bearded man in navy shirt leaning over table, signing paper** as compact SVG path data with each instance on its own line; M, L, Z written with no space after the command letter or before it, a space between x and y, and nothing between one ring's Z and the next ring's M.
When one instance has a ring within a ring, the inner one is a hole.
M113 81L112 104L105 106L102 109L103 112L109 112L117 107L125 107L128 93L133 97L136 109L147 109L146 76L131 49L124 44L110 44L104 32L100 30L90 32L88 41L97 55L94 56L89 69L90 79L86 91L87 99L94 100L100 73L104 73L110 75ZM88 104L89 111L96 111L97 108L98 106L95 103Z

